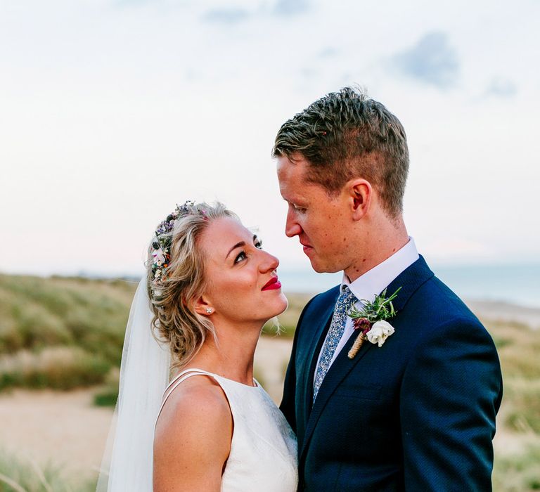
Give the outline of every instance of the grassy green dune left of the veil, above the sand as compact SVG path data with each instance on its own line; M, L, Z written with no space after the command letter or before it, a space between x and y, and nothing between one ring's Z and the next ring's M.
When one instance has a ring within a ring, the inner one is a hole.
M102 383L120 365L135 283L0 275L0 390Z

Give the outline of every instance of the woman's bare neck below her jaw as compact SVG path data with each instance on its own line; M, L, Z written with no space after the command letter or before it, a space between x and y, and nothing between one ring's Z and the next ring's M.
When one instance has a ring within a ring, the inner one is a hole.
M253 356L259 330L220 330L216 328L217 343L208 336L198 354L187 367L208 370L243 384L253 382Z

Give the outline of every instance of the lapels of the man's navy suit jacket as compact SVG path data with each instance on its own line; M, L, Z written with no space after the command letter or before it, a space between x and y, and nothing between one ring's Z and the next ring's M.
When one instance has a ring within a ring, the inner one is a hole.
M418 260L416 260L411 266L409 266L409 268L406 268L405 271L401 272L399 276L397 276L397 278L395 278L392 283L390 283L390 285L387 287L388 295L392 294L399 287L401 287L398 296L393 302L396 311L399 312L401 311L401 309L404 309L411 295L416 292L416 290L418 290L418 288L423 285L423 283L427 282L432 276L433 272L425 263L425 260L422 256L420 256ZM332 311L330 311L330 316L333 312L333 308L334 305L331 306ZM309 370L309 377L311 379L308 381L308 383L311 382L311 384L304 387L307 390L305 391L306 394L309 394L309 401L307 401L306 399L305 402L306 408L309 408L309 406L311 406L311 401L313 399L314 363L316 363L316 359L318 358L319 351L321 349L321 344L323 343L324 336L326 336L326 332L328 331L328 318L325 318L325 322L326 323L322 323L321 327L319 327L320 336L319 342L317 343L317 347L319 348L319 350L316 350L316 353L311 355L311 365ZM324 328L325 326L326 330L323 330L322 328ZM362 358L364 358L368 351L372 349L373 344L365 342L359 353L356 354L356 356L354 357L354 359L349 359L347 354L351 349L354 340L356 339L356 335L358 334L356 332L353 332L351 337L349 337L347 343L340 351L340 354L338 354L338 356L335 358L333 364L330 365L328 373L326 373L323 383L321 384L319 394L317 395L317 399L314 403L313 408L311 409L311 413L309 414L307 420L304 439L302 439L300 459L302 459L305 451L307 450L309 440L311 439L311 435L313 434L313 431L316 427L316 423L319 420L319 417L321 416L321 413L324 410L326 403L328 403L328 400L333 395L335 389L339 386L342 380L344 380L345 377L347 377L347 375L356 367L356 365L361 362Z

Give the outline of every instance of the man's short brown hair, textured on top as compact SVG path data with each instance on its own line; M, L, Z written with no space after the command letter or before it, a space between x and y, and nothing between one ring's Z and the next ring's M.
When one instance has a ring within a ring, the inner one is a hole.
M378 192L392 218L403 210L409 150L399 119L352 87L332 92L283 124L272 155L307 160L307 181L335 195L354 178Z

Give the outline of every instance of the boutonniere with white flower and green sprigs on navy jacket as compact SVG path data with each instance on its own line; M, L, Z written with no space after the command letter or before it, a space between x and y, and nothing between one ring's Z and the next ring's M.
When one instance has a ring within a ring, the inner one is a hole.
M399 287L394 294L386 297L386 289L378 296L375 296L373 302L366 302L361 310L354 306L350 309L348 315L354 323L354 330L359 330L359 335L354 340L349 354L349 358L354 358L364 340L367 338L372 344L378 344L383 347L386 339L394 333L394 327L386 320L396 316L396 310L392 301L397 297L397 293L401 290Z

